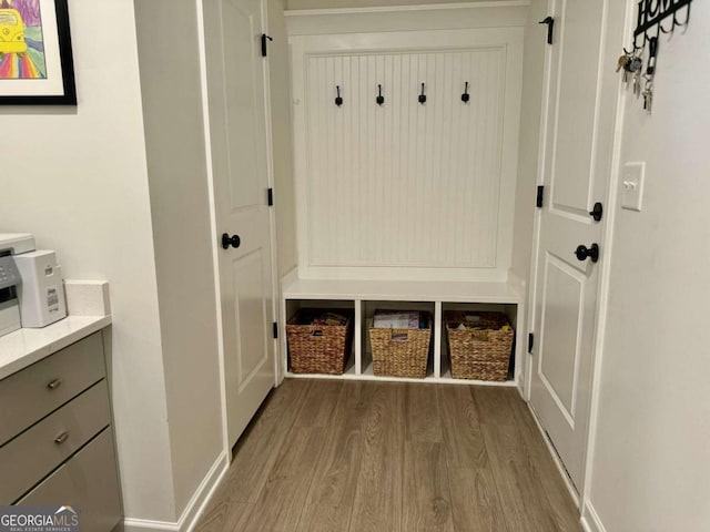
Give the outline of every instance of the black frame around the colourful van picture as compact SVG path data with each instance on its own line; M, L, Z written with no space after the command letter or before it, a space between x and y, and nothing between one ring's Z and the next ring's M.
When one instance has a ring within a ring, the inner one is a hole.
M62 92L55 94L1 94L0 105L77 105L77 82L69 24L68 0L45 0L54 4L57 14L57 43L61 63ZM1 3L0 3L1 4ZM44 41L47 41L44 39ZM3 79L0 78L0 84Z

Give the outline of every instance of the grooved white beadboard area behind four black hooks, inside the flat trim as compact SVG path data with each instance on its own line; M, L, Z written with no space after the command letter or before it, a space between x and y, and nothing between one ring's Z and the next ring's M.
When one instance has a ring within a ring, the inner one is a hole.
M311 265L496 266L505 59L500 48L308 58Z

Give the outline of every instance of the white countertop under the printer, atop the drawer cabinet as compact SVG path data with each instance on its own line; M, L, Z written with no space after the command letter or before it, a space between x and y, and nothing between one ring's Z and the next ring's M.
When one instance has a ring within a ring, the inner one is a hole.
M0 379L111 325L111 316L67 316L41 329L20 329L0 338Z

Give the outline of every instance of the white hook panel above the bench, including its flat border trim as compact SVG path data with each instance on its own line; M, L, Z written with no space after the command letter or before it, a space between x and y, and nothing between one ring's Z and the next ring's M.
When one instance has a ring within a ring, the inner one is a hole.
M521 33L294 37L292 53L301 276L505 279Z

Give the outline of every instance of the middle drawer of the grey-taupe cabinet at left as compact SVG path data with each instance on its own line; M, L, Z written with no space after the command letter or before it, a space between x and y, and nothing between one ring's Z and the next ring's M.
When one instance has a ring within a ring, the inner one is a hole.
M111 423L105 380L0 447L0 504L27 493Z

